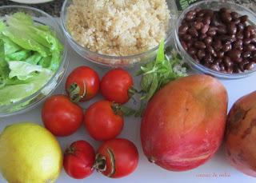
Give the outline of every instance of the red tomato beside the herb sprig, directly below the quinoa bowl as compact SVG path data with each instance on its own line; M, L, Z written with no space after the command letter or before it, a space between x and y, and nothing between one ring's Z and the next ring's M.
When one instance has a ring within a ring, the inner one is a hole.
M101 92L108 101L124 104L130 99L130 89L134 85L133 78L126 70L110 70L101 82Z

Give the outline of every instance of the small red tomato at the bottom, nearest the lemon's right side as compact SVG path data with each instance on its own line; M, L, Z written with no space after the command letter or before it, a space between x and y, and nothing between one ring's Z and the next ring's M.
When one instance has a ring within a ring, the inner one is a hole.
M73 178L82 179L93 173L95 152L87 141L75 141L66 149L63 166Z

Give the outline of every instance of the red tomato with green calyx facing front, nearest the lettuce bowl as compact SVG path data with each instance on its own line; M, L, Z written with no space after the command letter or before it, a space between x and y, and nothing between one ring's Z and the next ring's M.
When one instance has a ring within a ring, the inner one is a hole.
M89 101L99 89L98 74L88 66L80 66L66 79L66 92L71 101Z

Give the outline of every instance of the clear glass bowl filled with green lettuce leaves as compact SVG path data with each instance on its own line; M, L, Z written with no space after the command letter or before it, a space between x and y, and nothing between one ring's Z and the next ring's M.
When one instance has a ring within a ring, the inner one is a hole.
M38 105L68 66L58 22L28 6L0 7L0 117Z

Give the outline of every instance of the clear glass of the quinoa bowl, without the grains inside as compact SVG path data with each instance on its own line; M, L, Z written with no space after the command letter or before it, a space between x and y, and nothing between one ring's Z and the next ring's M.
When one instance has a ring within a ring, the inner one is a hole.
M62 12L61 12L61 25L62 30L66 35L67 41L70 43L70 46L82 56L82 58L86 58L86 60L90 62L97 63L98 65L102 66L108 66L108 67L132 67L136 63L143 63L143 62L149 62L153 61L157 51L158 46L154 47L151 50L148 50L141 54L134 54L129 56L110 56L105 54L98 54L96 52L90 51L89 49L86 49L85 47L82 47L76 42L72 36L70 35L69 31L66 27L66 15L67 15L67 8L73 4L72 0L66 0L62 5ZM170 38L172 35L172 32L174 30L175 22L178 18L178 11L175 5L174 1L167 1L167 5L170 10L171 20L170 20L170 29L167 31L166 34L166 44L167 42L170 42Z

